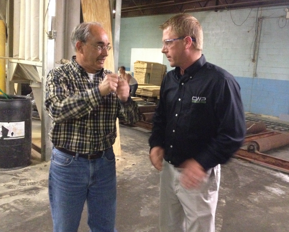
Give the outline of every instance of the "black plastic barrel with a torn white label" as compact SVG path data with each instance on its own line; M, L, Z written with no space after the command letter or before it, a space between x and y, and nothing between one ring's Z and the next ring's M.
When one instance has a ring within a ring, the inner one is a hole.
M0 95L0 170L14 170L31 164L31 97Z

